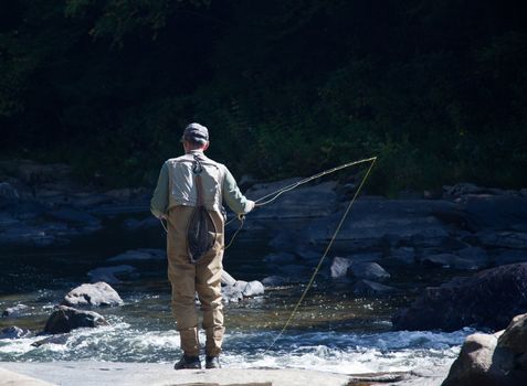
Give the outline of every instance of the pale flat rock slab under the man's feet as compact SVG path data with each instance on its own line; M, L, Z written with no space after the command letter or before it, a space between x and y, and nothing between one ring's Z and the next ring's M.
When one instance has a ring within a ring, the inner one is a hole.
M294 368L219 368L175 371L172 364L115 362L1 362L0 368L54 385L101 386L345 386L349 376ZM0 375L2 375L0 373ZM3 382L3 377L0 377ZM0 382L0 386L3 386ZM46 383L28 384L44 386ZM6 384L13 385L13 384ZM14 384L19 385L19 384ZM20 384L24 385L25 384Z

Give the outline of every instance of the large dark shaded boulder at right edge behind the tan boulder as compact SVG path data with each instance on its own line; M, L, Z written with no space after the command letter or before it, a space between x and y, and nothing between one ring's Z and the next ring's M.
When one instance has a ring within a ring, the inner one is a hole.
M527 309L527 262L486 269L426 288L393 317L396 330L504 329Z

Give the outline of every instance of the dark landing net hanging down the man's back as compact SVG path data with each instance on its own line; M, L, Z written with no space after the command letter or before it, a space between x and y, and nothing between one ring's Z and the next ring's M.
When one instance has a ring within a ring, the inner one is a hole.
M215 224L203 202L202 172L203 165L200 159L194 156L192 174L194 175L198 203L190 215L189 225L187 227L187 250L191 264L199 262L203 256L212 249L218 235Z

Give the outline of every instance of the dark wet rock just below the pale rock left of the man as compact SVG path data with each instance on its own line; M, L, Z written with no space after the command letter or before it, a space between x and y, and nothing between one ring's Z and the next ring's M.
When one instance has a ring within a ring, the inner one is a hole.
M61 334L80 328L97 328L101 325L108 325L108 322L96 312L59 305L45 322L44 332Z

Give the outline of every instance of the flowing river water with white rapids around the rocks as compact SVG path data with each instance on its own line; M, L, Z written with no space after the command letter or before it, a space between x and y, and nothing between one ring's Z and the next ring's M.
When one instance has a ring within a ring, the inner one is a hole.
M107 232L67 248L1 251L0 310L19 303L29 308L19 317L1 318L0 328L42 330L64 294L87 282L89 269L110 266L105 260L126 249L162 246L160 230L140 237ZM273 275L263 264L267 251L264 242L241 238L226 254L224 266L235 278L261 280ZM125 304L95 310L110 325L78 329L40 346L32 344L45 336L0 340L0 361L176 361L181 352L169 309L166 262L148 260L130 265L139 275L113 286ZM443 275L441 271L417 275L412 268L411 272L396 272L394 280L400 288L409 288L419 281L421 285L441 281ZM336 286L322 277L291 326L270 349L304 286L272 288L262 297L226 304L223 365L316 368L346 374L432 368L451 363L465 336L473 332L470 329L452 333L391 331L392 313L410 299L356 298L349 285Z

